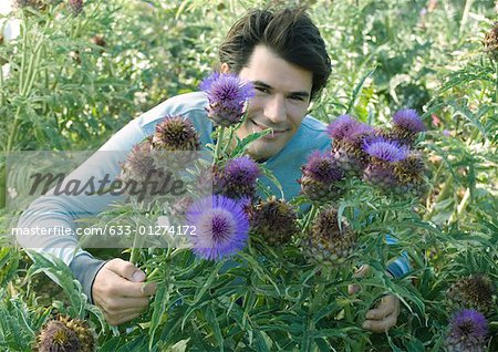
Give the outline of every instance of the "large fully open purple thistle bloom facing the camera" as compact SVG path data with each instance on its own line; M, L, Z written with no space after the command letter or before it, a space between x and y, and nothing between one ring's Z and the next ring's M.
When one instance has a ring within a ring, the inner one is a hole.
M220 260L243 249L249 219L243 204L224 196L210 196L194 203L187 222L195 227L189 239L194 252L208 260Z

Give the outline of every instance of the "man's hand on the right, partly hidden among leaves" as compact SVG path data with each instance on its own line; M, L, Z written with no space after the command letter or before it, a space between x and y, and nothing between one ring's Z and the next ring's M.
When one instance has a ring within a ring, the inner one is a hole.
M370 271L369 266L362 266L355 273L355 278L363 278ZM360 291L359 284L350 284L347 292L353 294ZM362 328L373 332L384 332L393 328L397 322L400 315L400 300L393 294L384 296L377 308L371 309L366 312L366 320Z

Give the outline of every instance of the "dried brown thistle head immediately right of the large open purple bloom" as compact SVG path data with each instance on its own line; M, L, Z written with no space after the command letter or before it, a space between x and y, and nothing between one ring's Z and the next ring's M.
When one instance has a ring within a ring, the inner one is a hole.
M292 235L299 231L295 209L274 196L250 208L249 220L251 230L270 246L289 244Z

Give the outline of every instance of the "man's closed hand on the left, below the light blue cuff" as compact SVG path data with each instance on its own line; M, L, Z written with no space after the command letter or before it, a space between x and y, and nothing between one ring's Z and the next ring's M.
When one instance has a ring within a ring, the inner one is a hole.
M95 304L111 325L137 318L156 291L155 283L144 283L145 273L129 261L113 259L97 272L92 286Z

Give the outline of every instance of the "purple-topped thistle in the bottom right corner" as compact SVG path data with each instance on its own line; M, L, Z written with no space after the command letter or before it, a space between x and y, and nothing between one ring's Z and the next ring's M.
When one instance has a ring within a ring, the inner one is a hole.
M486 318L474 309L457 312L449 325L450 334L457 340L483 339L488 333Z

